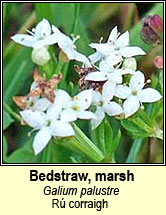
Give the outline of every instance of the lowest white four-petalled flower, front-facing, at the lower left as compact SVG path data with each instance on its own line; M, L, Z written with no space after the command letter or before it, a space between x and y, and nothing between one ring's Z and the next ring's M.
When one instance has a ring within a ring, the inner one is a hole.
M48 144L51 137L73 136L74 130L67 119L61 119L61 111L67 99L66 92L56 91L56 100L46 113L41 111L24 110L20 114L23 120L34 130L39 130L33 142L35 155L40 153Z

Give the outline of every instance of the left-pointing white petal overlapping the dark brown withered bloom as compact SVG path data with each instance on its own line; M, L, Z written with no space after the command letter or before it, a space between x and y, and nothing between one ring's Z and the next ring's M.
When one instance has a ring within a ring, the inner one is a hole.
M106 81L108 79L107 73L104 72L91 72L86 77L86 81Z

